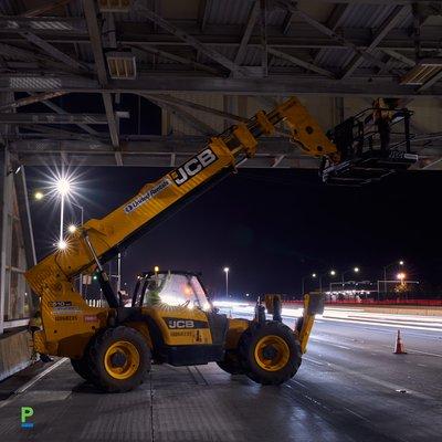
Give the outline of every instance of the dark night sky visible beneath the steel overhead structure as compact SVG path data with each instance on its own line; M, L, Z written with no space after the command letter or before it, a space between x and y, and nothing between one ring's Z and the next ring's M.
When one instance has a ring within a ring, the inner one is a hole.
M77 202L86 220L101 218L165 172L78 168ZM27 173L32 193L48 169L28 168ZM442 274L441 186L442 173L430 171L340 188L323 185L314 170L240 169L131 245L124 255L123 281L131 286L138 272L154 265L201 271L209 290L221 295L228 265L234 295L294 295L301 277L313 271L358 265L361 280L375 281L383 265L403 259L408 277L428 282L432 291ZM33 201L31 215L42 257L56 236L57 204ZM80 221L78 210L65 220Z

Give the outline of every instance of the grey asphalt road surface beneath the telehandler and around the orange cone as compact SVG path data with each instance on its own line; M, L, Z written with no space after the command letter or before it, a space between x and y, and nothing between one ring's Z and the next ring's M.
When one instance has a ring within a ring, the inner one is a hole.
M408 355L392 354L396 332L319 319L281 387L213 364L155 366L136 391L103 394L64 361L0 402L0 441L441 441L442 330L402 329Z

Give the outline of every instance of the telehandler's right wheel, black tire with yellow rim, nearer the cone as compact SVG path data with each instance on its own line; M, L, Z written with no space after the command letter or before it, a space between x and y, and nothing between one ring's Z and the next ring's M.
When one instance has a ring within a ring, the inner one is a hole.
M292 379L302 361L301 345L284 324L270 320L244 332L239 346L245 375L262 385Z

